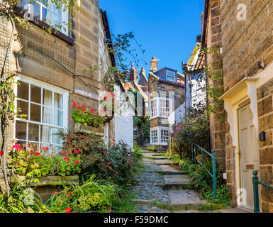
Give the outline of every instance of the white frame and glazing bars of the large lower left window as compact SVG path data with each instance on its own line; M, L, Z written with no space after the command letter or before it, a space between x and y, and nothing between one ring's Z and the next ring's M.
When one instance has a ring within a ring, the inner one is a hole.
M69 109L69 104L68 104L68 101L69 101L69 92L65 89L61 89L60 87L55 87L53 85L50 85L50 84L47 84L45 82L41 82L40 80L38 79L33 79L31 77L27 77L25 75L19 75L18 77L16 77L16 82L26 82L28 84L33 84L37 87L43 87L43 89L47 89L51 92L55 92L55 93L58 93L58 94L62 94L62 126L55 126L52 124L49 124L49 123L42 123L42 122L38 122L38 121L30 121L30 118L28 118L28 120L23 120L21 118L17 118L15 117L15 122L14 122L14 131L13 131L13 138L17 140L16 138L16 121L21 121L21 122L26 122L26 123L33 123L35 125L39 125L39 126L48 126L48 127L52 127L52 128L59 128L60 130L65 130L67 131L68 130L68 109ZM17 86L15 86L15 89L14 89L14 92L17 96ZM29 87L30 89L30 87ZM28 100L28 115L30 113L30 104L32 104L33 102L30 101L30 91L28 93L28 96L29 96L29 100ZM43 96L43 94L41 94L41 96ZM15 100L15 108L17 109L17 99ZM18 100L21 100L21 99L18 99ZM23 99L22 99L23 100ZM52 100L54 101L54 100ZM35 103L33 103L35 104ZM54 107L52 106L52 109L54 109ZM41 104L41 117L43 116L43 105ZM29 117L29 116L28 116ZM54 115L52 115L52 119L53 119ZM40 128L40 127L39 127ZM39 147L41 144L46 144L45 142L42 142L40 139L39 141L32 141L32 140L28 140L28 124L27 124L27 128L26 128L26 140L21 140L21 139L18 139L20 141L23 141L23 142L26 142L26 143L38 143L39 144ZM40 129L39 129L39 138L40 138ZM51 136L50 136L51 138ZM55 144L55 143L52 143L52 140L50 139L50 146L51 145L56 145L56 146L59 146L60 144Z

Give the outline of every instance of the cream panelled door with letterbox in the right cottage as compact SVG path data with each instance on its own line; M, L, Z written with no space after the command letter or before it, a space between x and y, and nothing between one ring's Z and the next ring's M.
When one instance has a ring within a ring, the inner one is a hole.
M253 124L253 114L250 104L238 109L239 142L240 142L240 187L241 205L253 209L252 172L260 170L259 149L256 128Z

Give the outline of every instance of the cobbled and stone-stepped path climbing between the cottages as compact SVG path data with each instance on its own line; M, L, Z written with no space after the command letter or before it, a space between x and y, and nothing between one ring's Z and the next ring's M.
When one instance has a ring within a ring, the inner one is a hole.
M136 213L239 213L235 209L199 211L199 193L187 189L191 184L185 172L173 167L167 157L143 150L142 167L133 179L130 194ZM240 211L242 212L242 211Z

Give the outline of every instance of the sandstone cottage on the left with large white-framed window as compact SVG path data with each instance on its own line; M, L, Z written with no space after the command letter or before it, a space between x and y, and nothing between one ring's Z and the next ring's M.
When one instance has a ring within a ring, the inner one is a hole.
M21 73L16 77L20 82L15 87L16 107L27 118L26 121L15 119L10 145L15 139L17 143L57 150L62 140L56 133L74 131L73 102L98 109L99 93L104 90L102 77L108 67L116 65L115 57L108 51L112 42L108 18L106 11L99 9L98 0L77 1L76 6L80 9L71 16L51 2L48 5L37 2L34 19L30 20L33 28L16 25L14 29L16 38L6 70L21 67ZM26 0L19 7L18 13L22 13L23 9L26 11L33 6ZM43 33L43 28L52 23L62 25L63 21L70 21L72 28L65 26L57 33ZM11 29L10 23L1 18L1 43L7 41ZM8 35L4 36L4 33ZM4 48L1 46L1 55ZM90 70L91 67L98 70ZM113 143L113 119L106 123L101 133L106 142Z

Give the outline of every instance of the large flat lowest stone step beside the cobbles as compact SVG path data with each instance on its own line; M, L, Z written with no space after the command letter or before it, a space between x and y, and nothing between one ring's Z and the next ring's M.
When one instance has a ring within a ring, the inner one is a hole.
M182 211L182 210L198 210L199 206L202 204L207 204L205 199L200 199L198 192L191 190L168 190L170 204L168 208L172 211Z

